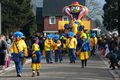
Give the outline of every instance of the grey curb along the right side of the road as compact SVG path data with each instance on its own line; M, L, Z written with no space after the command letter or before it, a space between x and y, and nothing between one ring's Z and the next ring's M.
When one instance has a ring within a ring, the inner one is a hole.
M103 63L109 67L108 62L106 62L106 60L98 53L98 56L100 57L100 59L103 61ZM120 73L118 72L118 70L110 70L108 69L108 71L110 72L110 74L114 77L115 80L120 80Z

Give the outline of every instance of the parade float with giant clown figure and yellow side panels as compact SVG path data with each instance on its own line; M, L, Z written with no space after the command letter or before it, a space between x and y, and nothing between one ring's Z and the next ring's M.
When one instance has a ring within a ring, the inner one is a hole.
M71 5L65 6L62 12L69 18L69 21L58 22L58 30L60 32L66 34L72 31L76 35L80 26L84 26L85 30L90 30L90 20L83 19L89 12L86 6L75 1Z

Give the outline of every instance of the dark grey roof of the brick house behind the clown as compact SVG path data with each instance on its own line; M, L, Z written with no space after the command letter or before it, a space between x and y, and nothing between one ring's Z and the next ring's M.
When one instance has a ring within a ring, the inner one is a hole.
M63 7L72 4L74 1L85 5L85 0L43 0L43 16L63 16Z

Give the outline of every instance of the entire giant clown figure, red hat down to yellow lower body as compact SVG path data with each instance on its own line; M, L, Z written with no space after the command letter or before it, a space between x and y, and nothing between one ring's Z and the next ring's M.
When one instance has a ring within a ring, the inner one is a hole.
M67 15L71 21L70 25L74 35L78 33L78 27L83 26L81 19L89 12L88 8L80 5L78 2L73 2L69 6L63 8L63 13Z

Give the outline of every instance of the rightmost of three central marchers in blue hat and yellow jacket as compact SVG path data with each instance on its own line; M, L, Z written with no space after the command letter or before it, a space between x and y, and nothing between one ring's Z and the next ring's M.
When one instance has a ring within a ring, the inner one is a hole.
M74 37L73 32L69 32L68 36L69 38L66 41L66 47L68 47L68 55L70 58L70 63L75 63L77 40Z

